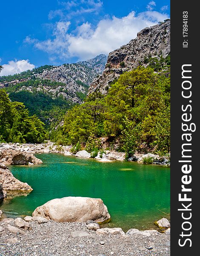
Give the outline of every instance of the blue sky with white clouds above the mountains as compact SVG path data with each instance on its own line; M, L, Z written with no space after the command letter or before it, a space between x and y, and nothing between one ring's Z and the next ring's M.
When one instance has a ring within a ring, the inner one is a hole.
M109 54L170 17L170 0L7 0L0 4L0 75Z

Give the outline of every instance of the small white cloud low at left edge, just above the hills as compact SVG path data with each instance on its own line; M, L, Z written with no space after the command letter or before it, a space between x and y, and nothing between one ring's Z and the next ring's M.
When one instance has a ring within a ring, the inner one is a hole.
M2 66L3 70L1 70L0 76L14 75L26 70L31 70L35 67L29 60L9 61L9 64L3 64Z

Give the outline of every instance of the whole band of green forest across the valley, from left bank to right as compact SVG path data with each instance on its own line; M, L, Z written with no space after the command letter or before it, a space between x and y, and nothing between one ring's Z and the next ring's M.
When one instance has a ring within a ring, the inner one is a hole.
M107 95L96 91L81 105L70 105L61 97L50 99L36 90L34 95L28 91L16 94L8 88L8 96L1 89L0 140L41 143L50 139L59 145L74 145L74 152L83 146L92 152L100 150L100 137L107 137L110 148L126 152L126 158L136 151L169 155L170 57L164 62L146 61L148 67L123 73ZM34 83L36 88L40 81ZM20 103L24 97L26 107ZM32 108L34 101L37 104ZM45 119L51 124L46 128Z

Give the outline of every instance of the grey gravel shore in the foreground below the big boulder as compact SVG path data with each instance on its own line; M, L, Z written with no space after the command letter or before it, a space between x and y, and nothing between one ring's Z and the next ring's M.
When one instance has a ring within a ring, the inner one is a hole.
M164 233L98 235L82 222L31 221L30 225L31 230L21 229L20 234L8 230L9 226L16 227L13 219L0 221L0 256L170 255L170 235Z

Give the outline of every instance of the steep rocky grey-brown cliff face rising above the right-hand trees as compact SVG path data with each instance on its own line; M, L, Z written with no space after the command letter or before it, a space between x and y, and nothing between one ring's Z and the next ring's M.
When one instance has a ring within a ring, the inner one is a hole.
M170 54L170 20L152 27L147 27L137 33L137 38L128 44L109 53L106 69L95 79L89 88L89 93L100 90L106 94L109 85L122 73L131 71L139 65L146 66L145 58L165 58Z

